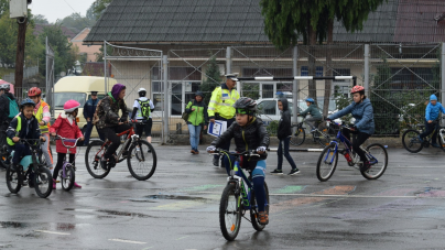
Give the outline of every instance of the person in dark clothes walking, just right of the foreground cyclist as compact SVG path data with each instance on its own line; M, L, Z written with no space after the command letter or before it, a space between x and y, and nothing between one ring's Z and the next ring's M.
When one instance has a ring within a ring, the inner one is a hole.
M278 139L280 140L279 150L278 150L278 155L279 155L278 161L279 162L278 162L276 170L272 171L271 174L276 174L276 175L283 174L283 171L282 171L283 154L286 157L289 164L291 164L291 166L292 166L291 173L289 173L289 175L300 174L300 170L296 169L295 162L292 159L291 154L289 153L289 143L291 141L292 130L291 130L291 112L289 111L287 99L285 99L285 98L279 99L278 105L279 105L279 109L281 110L281 119L280 119L279 128L278 128ZM283 151L283 149L284 149L284 151Z

